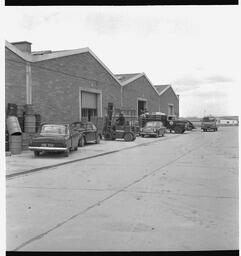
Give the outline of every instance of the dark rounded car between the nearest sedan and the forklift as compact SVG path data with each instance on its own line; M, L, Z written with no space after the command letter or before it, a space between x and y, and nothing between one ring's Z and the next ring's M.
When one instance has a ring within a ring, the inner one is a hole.
M71 124L71 127L73 130L79 132L78 145L80 147L90 142L100 143L101 133L92 122L74 122Z

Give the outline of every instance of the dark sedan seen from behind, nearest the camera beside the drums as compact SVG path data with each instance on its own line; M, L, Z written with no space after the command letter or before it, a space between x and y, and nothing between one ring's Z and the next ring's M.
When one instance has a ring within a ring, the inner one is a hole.
M64 152L65 156L69 156L71 150L78 150L79 137L79 133L72 130L69 124L44 123L29 149L35 156L41 152Z

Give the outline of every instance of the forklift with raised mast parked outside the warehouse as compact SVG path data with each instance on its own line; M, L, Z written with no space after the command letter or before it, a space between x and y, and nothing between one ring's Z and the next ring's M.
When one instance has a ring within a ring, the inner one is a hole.
M103 128L105 140L124 139L134 141L136 139L135 128L127 124L123 113L116 117L113 103L108 103L107 116Z

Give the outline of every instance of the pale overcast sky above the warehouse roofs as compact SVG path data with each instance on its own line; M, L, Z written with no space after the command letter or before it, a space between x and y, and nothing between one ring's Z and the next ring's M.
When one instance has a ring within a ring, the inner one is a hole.
M238 6L4 7L4 38L32 50L89 47L114 73L172 84L181 116L237 115Z

